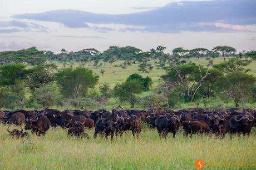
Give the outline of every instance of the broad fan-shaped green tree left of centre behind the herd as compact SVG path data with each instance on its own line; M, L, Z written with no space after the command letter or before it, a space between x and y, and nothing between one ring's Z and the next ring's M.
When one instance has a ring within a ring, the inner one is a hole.
M55 74L61 93L67 98L85 97L88 89L95 87L99 76L88 68L62 68Z

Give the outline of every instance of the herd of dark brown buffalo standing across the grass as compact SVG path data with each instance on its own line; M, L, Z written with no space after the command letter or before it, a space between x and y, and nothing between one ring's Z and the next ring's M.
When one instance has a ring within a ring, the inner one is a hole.
M93 137L97 134L101 137L122 136L125 131L131 131L135 138L139 138L141 132L141 122L146 123L150 128L156 128L159 137L166 138L168 133L173 133L173 137L183 127L186 137L193 134L214 134L224 138L226 133L249 135L252 127L256 126L256 111L254 109L227 109L225 111L214 111L212 109L191 108L179 111L166 110L157 113L155 109L113 109L111 112L106 109L97 111L79 111L57 109L44 109L43 111L1 111L0 122L9 124L7 131L11 137L28 137L24 129L31 129L37 136L45 136L51 127L62 127L67 129L68 136L89 138L85 129L95 128ZM21 130L13 129L12 124L19 125Z

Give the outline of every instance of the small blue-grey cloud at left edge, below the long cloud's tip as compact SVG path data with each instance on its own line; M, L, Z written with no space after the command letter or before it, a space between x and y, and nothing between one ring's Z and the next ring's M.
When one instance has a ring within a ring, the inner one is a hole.
M21 21L0 21L0 33L13 33L21 31L47 32L47 28L40 24Z

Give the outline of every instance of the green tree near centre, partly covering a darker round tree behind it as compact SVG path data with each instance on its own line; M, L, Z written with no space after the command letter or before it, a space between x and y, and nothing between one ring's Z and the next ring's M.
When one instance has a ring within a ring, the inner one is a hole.
M138 99L138 94L143 91L143 85L138 79L132 79L121 84L116 84L114 95L119 98L120 102L129 102L131 108L134 108Z

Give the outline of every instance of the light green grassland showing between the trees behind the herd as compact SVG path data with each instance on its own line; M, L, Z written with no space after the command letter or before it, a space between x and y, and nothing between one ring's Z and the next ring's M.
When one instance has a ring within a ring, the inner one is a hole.
M204 58L201 59L197 59L197 58L192 58L190 59L191 62L194 62L196 64L200 64L202 66L206 66L206 64L208 64L208 61ZM223 58L219 57L219 58L215 58L214 59L214 64L218 64L223 62ZM152 69L152 71L150 73L142 73L140 71L137 71L137 65L138 64L132 64L131 66L127 66L126 69L122 69L121 67L115 67L115 66L119 66L120 64L124 63L124 61L117 61L114 62L112 64L110 63L106 63L104 64L102 62L102 66L101 67L94 67L93 63L86 63L85 67L89 67L90 69L92 69L93 72L95 72L97 75L100 76L99 79L99 84L107 82L110 84L110 87L113 88L115 86L116 83L122 83L126 80L127 77L129 77L131 74L133 73L139 73L141 74L141 76L149 76L150 78L152 78L153 81L153 86L151 87L149 92L144 92L142 94L140 94L140 97L144 97L149 93L152 93L155 91L157 85L159 85L160 82L162 82L163 80L160 78L160 76L162 76L163 74L166 73L166 71L164 69L156 69L155 67L155 62L156 60L151 60L150 63L152 64L152 66L154 66L154 68ZM101 63L101 62L100 62ZM56 63L58 68L62 68L63 65L62 63ZM78 63L74 63L73 67L77 67L79 66ZM67 66L68 67L68 66ZM247 68L250 69L249 73L253 74L254 76L256 76L256 61L253 61L252 63L249 64L249 66L247 66ZM102 75L100 73L100 70L104 69L105 73L104 75ZM96 87L97 88L97 87ZM211 100L209 107L215 107L220 105L221 102L220 99L213 99ZM110 100L105 104L105 106L99 106L99 107L95 107L92 109L97 109L97 108L106 108L106 109L111 109L114 106L116 106L116 104L119 104L118 101L116 101L116 99L114 98L110 98ZM129 103L122 103L122 106L124 106L125 108L129 108L130 104ZM227 108L232 108L234 107L234 102L230 101L227 104L223 103L224 107ZM174 109L180 109L180 108L191 108L191 107L196 107L196 103L190 102L190 103L180 103L180 106L178 106L177 108ZM200 103L199 107L203 108L203 102ZM244 108L256 108L256 103L245 103L245 105L243 106ZM53 106L53 108L58 108L56 106ZM135 108L140 108L142 109L142 107L140 106L139 103L137 103L135 105ZM59 109L62 109L61 107Z

